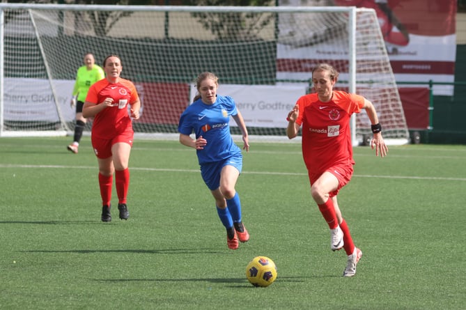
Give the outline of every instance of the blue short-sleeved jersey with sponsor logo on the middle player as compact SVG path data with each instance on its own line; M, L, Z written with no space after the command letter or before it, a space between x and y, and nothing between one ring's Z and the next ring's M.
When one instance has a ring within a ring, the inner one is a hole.
M238 114L233 98L217 95L213 104L205 104L201 98L194 101L180 116L178 132L203 137L207 145L196 150L199 164L218 162L241 154L230 134L230 116Z

